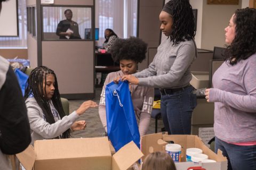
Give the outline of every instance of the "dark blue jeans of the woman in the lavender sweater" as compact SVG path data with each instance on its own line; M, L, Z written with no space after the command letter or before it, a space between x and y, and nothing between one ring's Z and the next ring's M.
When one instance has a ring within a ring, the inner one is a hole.
M215 152L222 151L228 159L228 170L256 170L256 145L238 146L215 137Z

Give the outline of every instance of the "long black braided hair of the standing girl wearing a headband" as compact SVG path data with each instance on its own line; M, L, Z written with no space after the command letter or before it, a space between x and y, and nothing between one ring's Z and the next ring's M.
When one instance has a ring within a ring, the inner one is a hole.
M174 44L195 37L195 18L189 0L171 0L164 5L162 11L169 13L172 17L172 32L169 37Z

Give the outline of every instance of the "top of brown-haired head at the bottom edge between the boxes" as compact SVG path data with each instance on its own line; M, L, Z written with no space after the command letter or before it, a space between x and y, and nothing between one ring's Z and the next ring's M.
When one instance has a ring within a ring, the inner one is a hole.
M143 164L142 170L176 170L172 157L166 152L153 152L149 154Z

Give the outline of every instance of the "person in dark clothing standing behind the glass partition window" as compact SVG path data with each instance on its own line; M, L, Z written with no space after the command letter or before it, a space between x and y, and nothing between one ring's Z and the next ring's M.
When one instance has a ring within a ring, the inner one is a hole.
M78 23L72 21L72 11L67 9L64 14L66 20L60 21L57 26L56 34L60 36L60 39L81 39L78 31Z

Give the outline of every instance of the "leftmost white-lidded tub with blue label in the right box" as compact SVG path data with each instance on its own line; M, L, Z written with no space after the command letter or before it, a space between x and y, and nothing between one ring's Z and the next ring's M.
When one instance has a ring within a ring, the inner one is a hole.
M165 151L169 154L174 163L181 162L181 146L178 144L170 143L165 146Z

